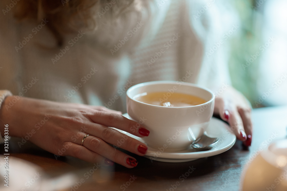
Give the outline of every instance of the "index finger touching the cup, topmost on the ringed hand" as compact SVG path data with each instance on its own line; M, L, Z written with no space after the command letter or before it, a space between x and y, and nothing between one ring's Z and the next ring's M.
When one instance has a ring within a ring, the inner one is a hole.
M150 134L150 131L141 124L116 113L96 111L89 117L96 124L114 127L138 137L145 137Z

